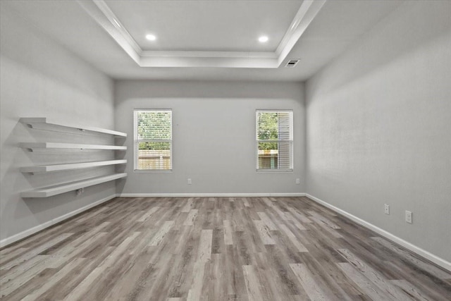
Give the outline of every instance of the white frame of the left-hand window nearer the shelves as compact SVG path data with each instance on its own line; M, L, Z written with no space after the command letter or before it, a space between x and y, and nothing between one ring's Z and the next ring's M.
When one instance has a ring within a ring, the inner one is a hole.
M171 140L161 139L137 139L138 126L137 126L137 113L139 111L170 111L171 112ZM169 160L171 169L139 169L138 168L138 148L140 142L169 142ZM173 110L172 109L133 109L133 171L135 173L171 173L173 171Z

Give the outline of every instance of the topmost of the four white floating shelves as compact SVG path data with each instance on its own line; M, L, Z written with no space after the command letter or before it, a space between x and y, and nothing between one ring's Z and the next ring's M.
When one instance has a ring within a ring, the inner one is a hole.
M116 137L127 137L127 133L118 132L116 130L106 130L104 128L94 128L92 126L85 125L69 125L65 123L57 123L49 121L46 117L20 118L19 122L30 125L31 128L37 128L41 130L56 130L59 132L78 133L78 134L84 134L84 132L87 131L114 135Z

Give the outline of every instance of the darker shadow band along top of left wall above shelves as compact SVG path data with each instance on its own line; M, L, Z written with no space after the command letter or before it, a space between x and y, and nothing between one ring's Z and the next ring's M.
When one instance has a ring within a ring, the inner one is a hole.
M0 20L2 67L5 60L11 60L15 68L26 68L27 72L49 78L65 90L82 92L99 102L109 102L104 95L111 94L110 87L106 90L106 85L97 85L105 80L104 75L92 73L92 66L74 56L70 49L62 47L35 28L27 27L26 20L7 9L2 8ZM39 54L39 59L35 54ZM87 80L80 74L91 78Z

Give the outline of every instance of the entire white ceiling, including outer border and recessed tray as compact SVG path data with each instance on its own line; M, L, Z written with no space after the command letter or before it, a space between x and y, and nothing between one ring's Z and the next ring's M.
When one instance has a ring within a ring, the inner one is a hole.
M302 81L401 3L2 0L1 8L112 78ZM292 58L301 61L284 68Z

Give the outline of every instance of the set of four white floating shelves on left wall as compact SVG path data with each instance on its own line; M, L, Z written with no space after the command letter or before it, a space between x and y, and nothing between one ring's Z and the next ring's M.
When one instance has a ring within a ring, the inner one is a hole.
M114 137L127 137L126 133L118 132L116 130L106 130L104 128L94 128L84 125L68 125L67 123L57 123L54 121L49 121L45 117L36 118L20 118L20 123L28 125L30 128L37 130L51 130L62 133L73 133L80 135L97 135L106 134L113 135ZM62 142L23 142L19 144L19 147L27 149L30 152L35 152L35 150L46 150L53 149L56 151L62 151L65 149L98 149L98 150L127 150L126 146L123 145L85 145L78 143L62 143ZM107 160L107 161L91 161L91 162L75 162L66 164L49 164L49 165L39 165L39 166L25 166L20 168L22 173L47 173L51 171L70 171L74 169L81 168L92 168L99 166L109 166L117 164L126 164L126 159L117 160ZM85 178L81 180L75 180L69 183L63 183L58 185L49 186L47 188L39 188L35 190L29 190L25 192L20 192L20 197L51 197L54 195L61 195L65 192L70 192L73 190L79 190L92 185L97 185L112 180L117 180L120 178L125 178L127 173L113 173L108 176L97 176L94 178Z

